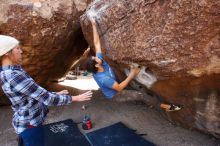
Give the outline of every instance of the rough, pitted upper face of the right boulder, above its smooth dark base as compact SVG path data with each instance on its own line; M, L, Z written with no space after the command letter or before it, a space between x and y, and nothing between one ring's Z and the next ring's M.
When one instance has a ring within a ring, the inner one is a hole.
M114 61L147 65L159 77L200 76L220 72L219 8L214 0L96 0L82 21L86 27L85 17L96 17L103 47Z

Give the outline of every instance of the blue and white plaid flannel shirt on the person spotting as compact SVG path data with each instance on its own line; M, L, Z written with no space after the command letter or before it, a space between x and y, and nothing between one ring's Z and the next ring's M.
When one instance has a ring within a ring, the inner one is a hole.
M69 95L58 95L40 87L19 65L0 67L0 84L12 103L12 125L17 134L28 125L39 126L47 113L47 106L67 105Z

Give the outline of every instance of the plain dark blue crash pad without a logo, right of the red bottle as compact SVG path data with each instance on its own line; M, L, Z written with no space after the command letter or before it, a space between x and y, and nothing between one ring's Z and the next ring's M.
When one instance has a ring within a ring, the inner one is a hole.
M86 134L92 146L155 146L119 122Z

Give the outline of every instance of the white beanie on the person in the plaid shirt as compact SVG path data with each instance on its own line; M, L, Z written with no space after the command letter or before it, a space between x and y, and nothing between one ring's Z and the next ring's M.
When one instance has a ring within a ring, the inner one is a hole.
M19 44L19 41L13 37L0 35L0 56L8 53Z

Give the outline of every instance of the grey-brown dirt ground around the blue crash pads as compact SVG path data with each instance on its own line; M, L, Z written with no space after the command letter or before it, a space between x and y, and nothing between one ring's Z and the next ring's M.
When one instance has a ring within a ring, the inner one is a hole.
M86 110L81 109L84 104L87 106ZM177 127L164 119L155 109L139 102L109 101L100 91L94 93L91 102L51 107L45 123L69 118L80 122L85 114L91 116L94 126L92 130L122 121L128 127L136 129L137 133L146 133L144 138L158 146L220 146L220 139ZM16 146L16 134L11 126L11 108L0 107L0 115L0 146ZM89 132L82 129L81 131Z

